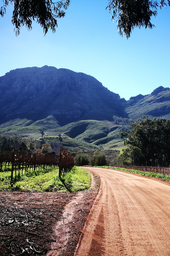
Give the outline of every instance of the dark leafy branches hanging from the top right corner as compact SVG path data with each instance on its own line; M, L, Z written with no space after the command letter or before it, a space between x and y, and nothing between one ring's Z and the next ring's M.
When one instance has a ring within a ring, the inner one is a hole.
M170 6L170 0L167 0ZM123 33L130 37L131 31L138 27L152 29L151 17L157 16L157 8L167 6L164 0L160 3L156 0L109 0L108 9L112 13L112 20L118 19L117 29L120 35Z

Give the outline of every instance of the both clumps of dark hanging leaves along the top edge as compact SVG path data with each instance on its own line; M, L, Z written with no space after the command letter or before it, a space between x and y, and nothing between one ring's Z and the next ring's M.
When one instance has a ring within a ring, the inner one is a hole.
M6 13L6 7L11 3L14 6L12 23L15 26L16 35L20 28L26 26L32 29L32 21L38 22L43 28L44 34L48 30L56 31L57 18L65 16L65 11L70 5L70 0L3 0L0 15ZM170 6L170 0L109 0L106 9L112 14L112 20L118 19L117 28L121 36L130 37L131 31L136 27L152 29L151 17L157 15L157 8Z

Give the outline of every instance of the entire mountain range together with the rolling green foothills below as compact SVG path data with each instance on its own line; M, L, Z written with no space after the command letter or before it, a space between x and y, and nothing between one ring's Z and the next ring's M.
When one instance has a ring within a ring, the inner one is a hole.
M170 119L170 89L160 86L126 101L94 77L68 69L22 68L0 77L1 133L63 131L65 146L107 149L143 115Z

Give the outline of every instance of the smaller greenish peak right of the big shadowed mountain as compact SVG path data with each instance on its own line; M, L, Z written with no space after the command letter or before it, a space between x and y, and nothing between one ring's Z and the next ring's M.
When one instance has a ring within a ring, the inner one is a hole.
M144 115L150 118L170 114L170 89L160 86L151 94L131 97L126 102L126 112L129 118L137 119Z

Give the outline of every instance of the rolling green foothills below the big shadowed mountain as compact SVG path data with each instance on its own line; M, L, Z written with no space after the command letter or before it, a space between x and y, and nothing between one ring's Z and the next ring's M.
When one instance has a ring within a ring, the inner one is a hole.
M59 142L64 147L77 147L85 152L90 149L101 150L113 147L115 142L123 141L120 132L129 129L128 126L115 125L113 122L107 120L80 120L59 127L58 121L52 115L36 122L25 119L24 123L22 122L24 119L18 120L18 125L17 120L18 119L15 120L14 126L10 126L12 125L12 122L9 122L9 126L6 127L8 133L10 133L9 135L16 133L18 135L21 134L22 136L31 136L32 138L41 137L40 130L42 129L47 135L44 135L43 137L45 141ZM28 121L32 123L27 125ZM3 132L5 131L4 129L0 129L0 131L1 130L3 130ZM62 135L61 138L58 138L59 134Z

